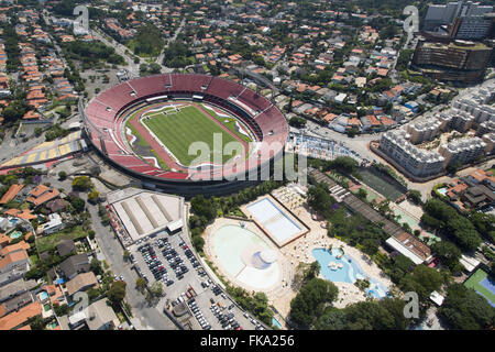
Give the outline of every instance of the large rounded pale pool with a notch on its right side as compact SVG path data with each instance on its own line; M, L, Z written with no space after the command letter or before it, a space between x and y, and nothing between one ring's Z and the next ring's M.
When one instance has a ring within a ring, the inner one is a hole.
M227 274L252 288L264 289L275 285L282 274L278 263L265 268L250 264L250 254L271 250L256 233L239 226L224 226L213 233L212 250Z

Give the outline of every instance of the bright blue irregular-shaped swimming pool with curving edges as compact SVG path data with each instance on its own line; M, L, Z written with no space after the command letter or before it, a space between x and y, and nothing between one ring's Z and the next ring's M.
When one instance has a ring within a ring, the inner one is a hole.
M367 277L361 266L349 255L344 254L342 258L338 258L338 256L342 254L340 249L332 249L331 253L327 249L315 249L311 253L318 263L320 263L321 275L323 275L323 277L328 280L354 284L358 279L364 279ZM328 266L330 262L341 263L343 267L332 271ZM375 298L386 297L388 289L385 285L373 277L369 277L369 280L370 287L366 288L366 293Z

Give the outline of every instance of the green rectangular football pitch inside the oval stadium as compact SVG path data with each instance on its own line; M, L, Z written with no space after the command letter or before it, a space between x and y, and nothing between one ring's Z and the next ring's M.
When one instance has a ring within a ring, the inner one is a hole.
M151 112L144 114L141 121L185 166L189 166L193 161L198 162L198 156L201 156L200 163L213 162L216 155L222 154L227 143L238 142L208 116L193 106L180 108L178 112L170 110ZM222 144L219 151L213 151L215 133L221 134ZM189 146L194 142L205 142L209 147L209 154L199 155L199 152L195 151L198 154L189 155ZM232 155L221 155L218 158L226 163L231 157Z

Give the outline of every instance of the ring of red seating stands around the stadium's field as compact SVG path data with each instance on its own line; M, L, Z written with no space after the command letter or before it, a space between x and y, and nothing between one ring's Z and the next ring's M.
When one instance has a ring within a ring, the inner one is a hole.
M139 102L160 100L158 97L166 100L194 99L194 96L204 96L204 101L228 110L248 124L261 142L256 150L260 153L252 153L249 160L238 161L235 167L227 169L166 170L132 151L121 133L128 110ZM244 175L249 169L265 166L283 151L288 135L285 117L268 99L233 81L207 75L166 74L127 80L91 99L84 121L95 147L121 168L148 182L186 184L185 187L191 180L218 180L219 176L223 176L219 180L224 183L232 177L227 179L223 173Z

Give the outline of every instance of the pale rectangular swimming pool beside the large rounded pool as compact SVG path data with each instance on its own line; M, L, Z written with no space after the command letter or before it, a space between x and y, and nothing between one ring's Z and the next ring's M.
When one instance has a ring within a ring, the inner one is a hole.
M268 198L263 198L246 209L280 243L302 230Z

